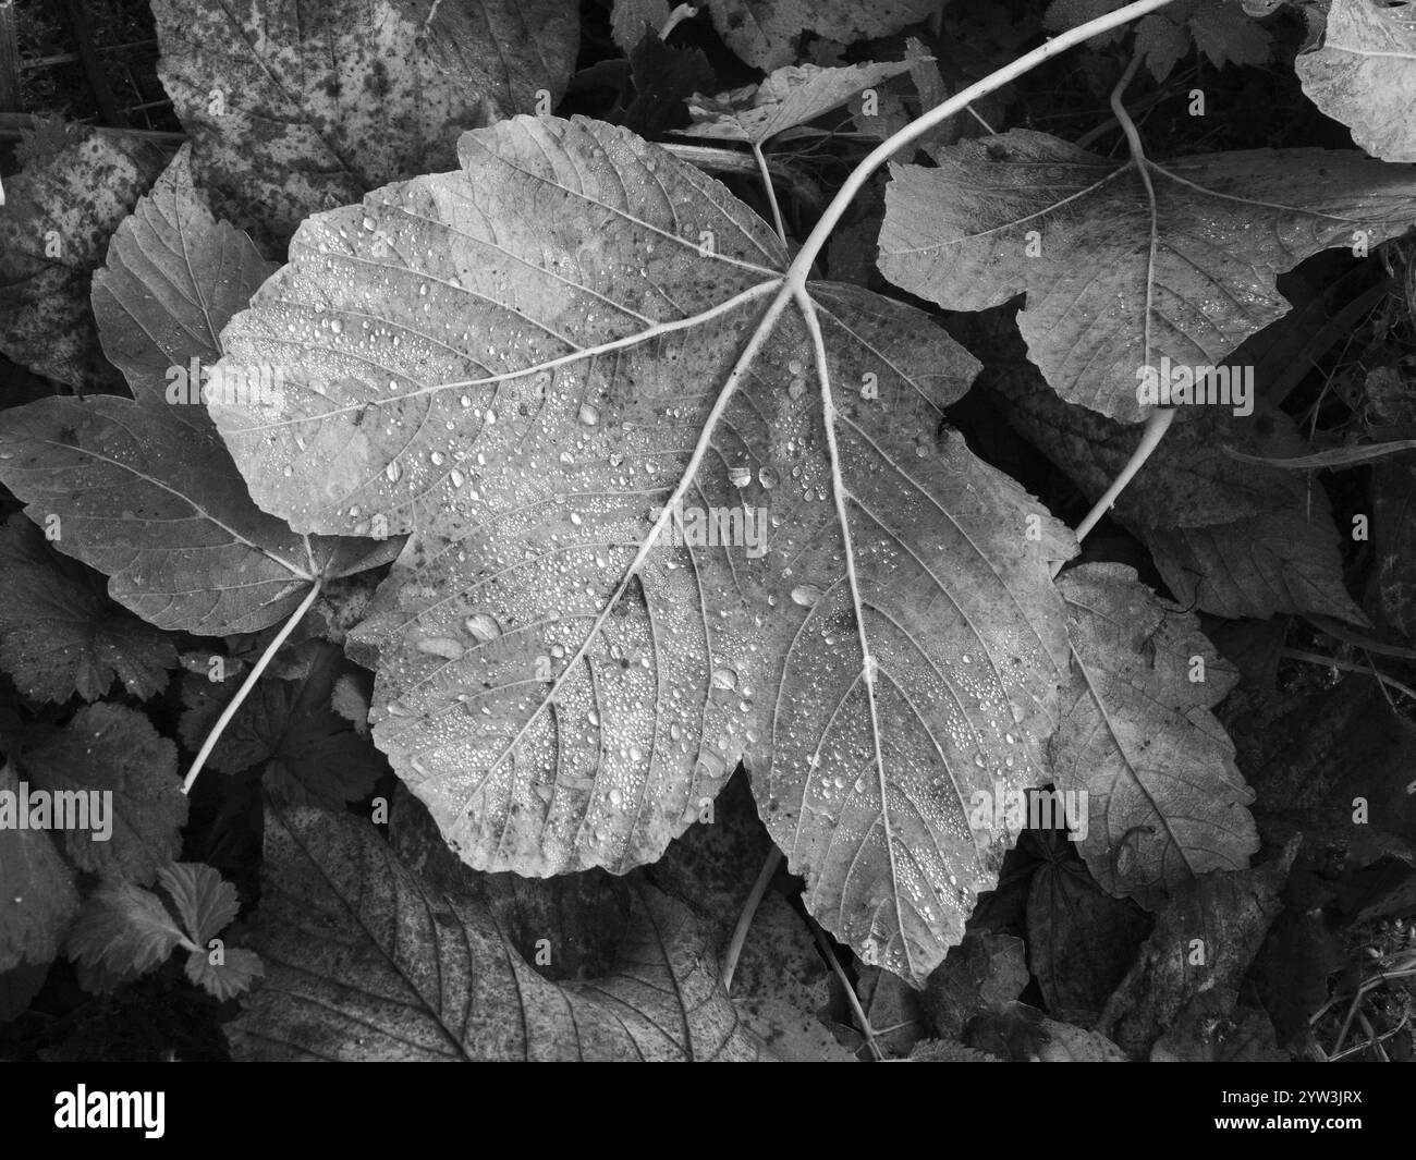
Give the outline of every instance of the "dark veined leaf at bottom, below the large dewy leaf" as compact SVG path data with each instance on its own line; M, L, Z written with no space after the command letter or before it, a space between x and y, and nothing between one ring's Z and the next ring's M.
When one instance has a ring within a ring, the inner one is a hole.
M697 921L633 889L613 972L552 983L486 904L419 880L367 821L269 813L238 1059L758 1059ZM312 933L317 932L317 933Z

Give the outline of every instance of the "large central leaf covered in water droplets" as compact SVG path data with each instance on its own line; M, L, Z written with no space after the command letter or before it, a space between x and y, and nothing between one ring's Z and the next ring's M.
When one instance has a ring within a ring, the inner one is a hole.
M211 404L297 531L412 533L350 635L377 744L472 865L537 875L653 861L745 756L811 911L922 977L1011 841L963 803L1045 776L1075 551L937 433L974 361L793 297L766 224L632 133L462 156L307 221L224 331L299 380Z

